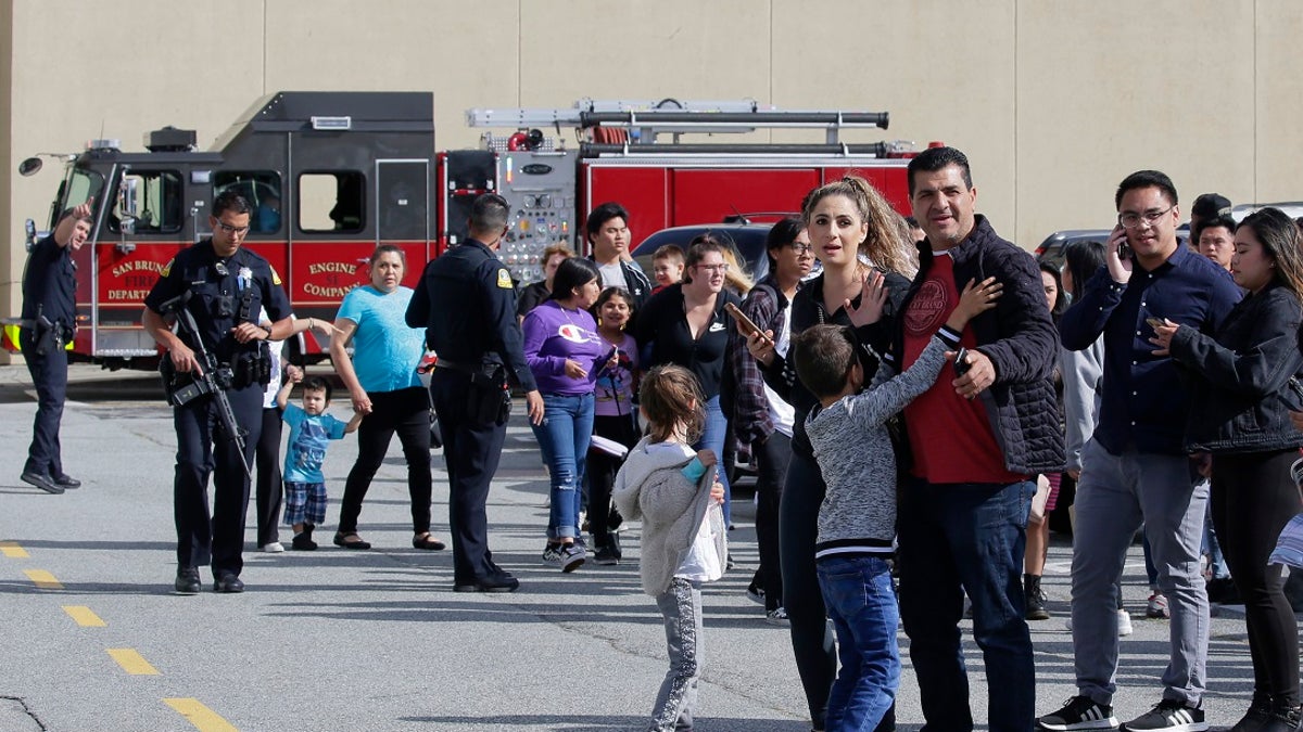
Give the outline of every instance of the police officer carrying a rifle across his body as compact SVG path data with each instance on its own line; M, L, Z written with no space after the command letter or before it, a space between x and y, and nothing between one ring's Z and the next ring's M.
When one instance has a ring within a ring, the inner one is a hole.
M145 330L168 350L164 375L175 371L168 378L173 386L184 386L192 373L206 369L197 354L199 344L193 343L184 328L173 333L168 327L175 319L173 307L185 307L194 317L203 349L223 365L216 371L224 376L219 382L229 380L224 384L225 393L236 423L245 431L241 453L220 426L211 393L173 408L176 591L181 594L202 589L198 568L210 563L216 591L244 591L240 570L244 568L241 551L249 505L245 468L262 430L263 387L271 363L263 341L283 340L293 328L280 277L266 259L240 246L249 233L251 214L253 206L242 195L219 195L208 216L212 236L177 254L145 298ZM258 324L261 307L266 307L271 328ZM229 369L229 379L225 369ZM208 473L214 477L211 520Z

